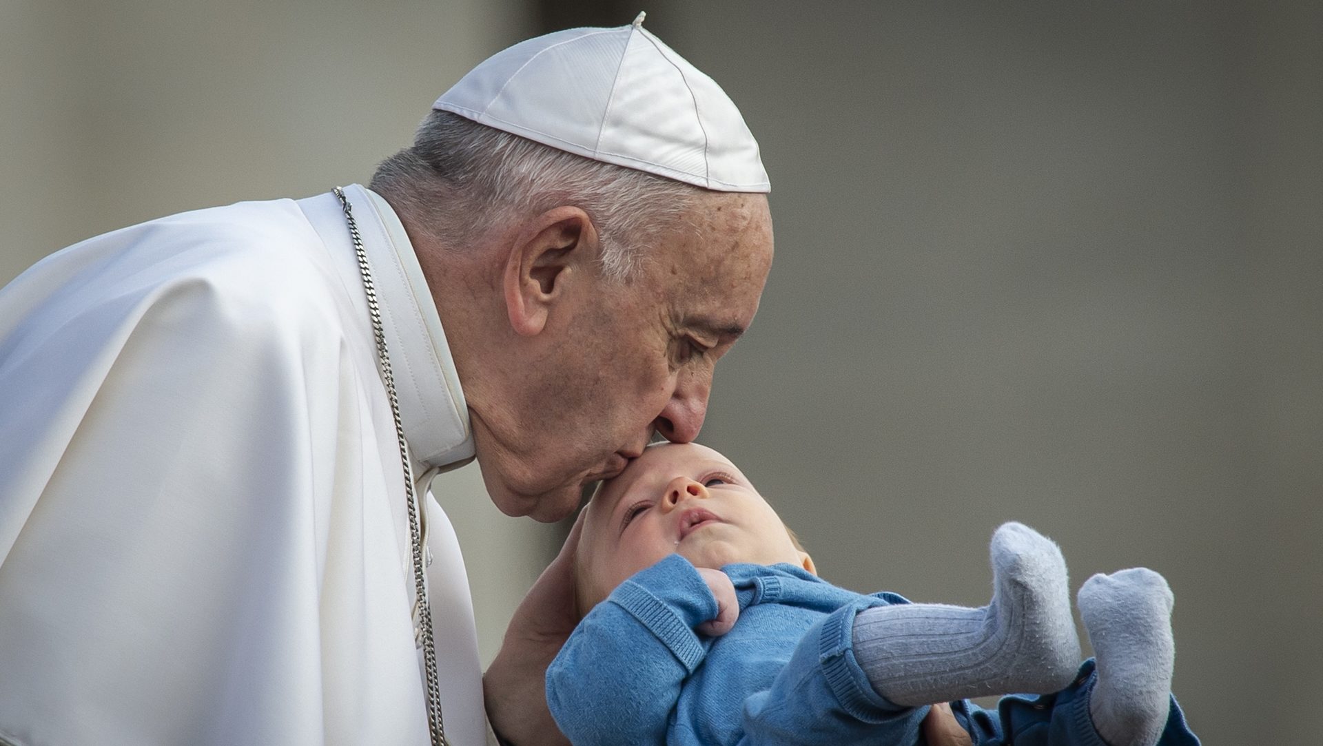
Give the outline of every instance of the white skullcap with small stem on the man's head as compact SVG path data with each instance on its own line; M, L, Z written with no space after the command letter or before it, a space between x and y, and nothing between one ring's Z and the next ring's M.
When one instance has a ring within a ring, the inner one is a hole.
M722 192L770 192L721 86L643 28L569 29L497 52L433 108L576 155Z

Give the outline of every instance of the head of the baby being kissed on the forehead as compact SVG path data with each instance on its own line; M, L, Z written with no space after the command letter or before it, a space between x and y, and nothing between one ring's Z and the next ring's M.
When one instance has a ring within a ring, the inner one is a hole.
M790 562L814 571L745 475L697 443L646 448L602 484L585 511L574 567L581 614L672 553L714 570L730 562Z

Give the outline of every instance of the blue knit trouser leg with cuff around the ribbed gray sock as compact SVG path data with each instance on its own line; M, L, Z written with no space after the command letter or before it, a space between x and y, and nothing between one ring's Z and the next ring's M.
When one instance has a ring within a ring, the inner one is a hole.
M892 704L873 690L855 660L861 597L808 628L771 686L745 700L741 743L917 743L927 708Z

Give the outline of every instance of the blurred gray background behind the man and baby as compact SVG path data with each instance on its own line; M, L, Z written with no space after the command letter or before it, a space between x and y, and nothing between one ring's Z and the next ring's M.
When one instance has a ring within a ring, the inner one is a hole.
M1316 3L0 0L0 283L366 181L486 56L638 9L763 148L775 266L704 440L822 573L982 604L1023 520L1074 585L1167 575L1205 743L1316 742ZM435 488L490 660L564 526Z

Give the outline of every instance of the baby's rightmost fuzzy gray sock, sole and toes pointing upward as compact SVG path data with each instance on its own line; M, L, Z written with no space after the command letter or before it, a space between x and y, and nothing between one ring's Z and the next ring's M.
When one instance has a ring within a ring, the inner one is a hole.
M1167 725L1174 602L1167 581L1147 567L1094 575L1080 589L1080 615L1098 659L1089 714L1110 746L1152 746Z

